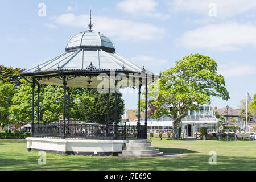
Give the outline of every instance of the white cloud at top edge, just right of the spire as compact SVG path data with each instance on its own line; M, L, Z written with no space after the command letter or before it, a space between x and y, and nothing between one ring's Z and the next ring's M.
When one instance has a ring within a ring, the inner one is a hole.
M156 3L154 0L125 0L117 4L118 9L129 14L141 14L152 18L168 19L170 15L163 15L156 11Z

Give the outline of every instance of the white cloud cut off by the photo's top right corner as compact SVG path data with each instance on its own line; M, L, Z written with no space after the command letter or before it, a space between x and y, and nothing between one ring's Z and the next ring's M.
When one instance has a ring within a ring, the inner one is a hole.
M254 0L174 0L172 5L176 11L190 11L208 16L210 3L216 4L218 18L228 18L256 10L256 1Z

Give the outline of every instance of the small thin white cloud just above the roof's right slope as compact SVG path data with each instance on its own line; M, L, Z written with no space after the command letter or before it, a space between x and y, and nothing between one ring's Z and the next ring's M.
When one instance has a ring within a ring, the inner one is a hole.
M135 56L131 57L131 60L145 66L159 66L166 64L168 61L164 59L158 59L150 56Z

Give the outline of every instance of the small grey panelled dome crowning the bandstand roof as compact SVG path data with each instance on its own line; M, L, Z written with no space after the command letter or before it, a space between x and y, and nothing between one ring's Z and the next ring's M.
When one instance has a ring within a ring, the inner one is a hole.
M115 46L107 36L96 32L94 30L87 30L80 32L71 39L69 39L66 51L75 51L76 49L104 49L106 51L114 52Z

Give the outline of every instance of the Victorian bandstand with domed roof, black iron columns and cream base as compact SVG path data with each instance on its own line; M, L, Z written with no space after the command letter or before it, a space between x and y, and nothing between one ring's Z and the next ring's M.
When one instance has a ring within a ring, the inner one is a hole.
M117 155L122 152L125 143L139 143L147 140L147 85L155 81L158 75L141 65L132 63L115 53L115 46L101 32L89 30L79 32L69 39L65 52L36 67L21 73L32 83L32 130L27 138L27 150L57 152L60 154L78 154L89 156ZM35 85L37 91L37 121L34 121ZM40 123L39 93L40 85L61 86L64 88L64 110L62 123ZM144 125L119 125L117 121L117 94L119 88L138 89L138 109L140 110L141 87L146 89L146 119ZM69 123L70 88L97 88L106 93L107 111L105 124ZM68 96L66 96L66 94ZM115 96L115 119L109 123L109 94ZM66 97L68 104L66 106ZM67 113L66 113L67 111ZM66 118L67 115L67 118ZM146 141L148 142L148 141Z

